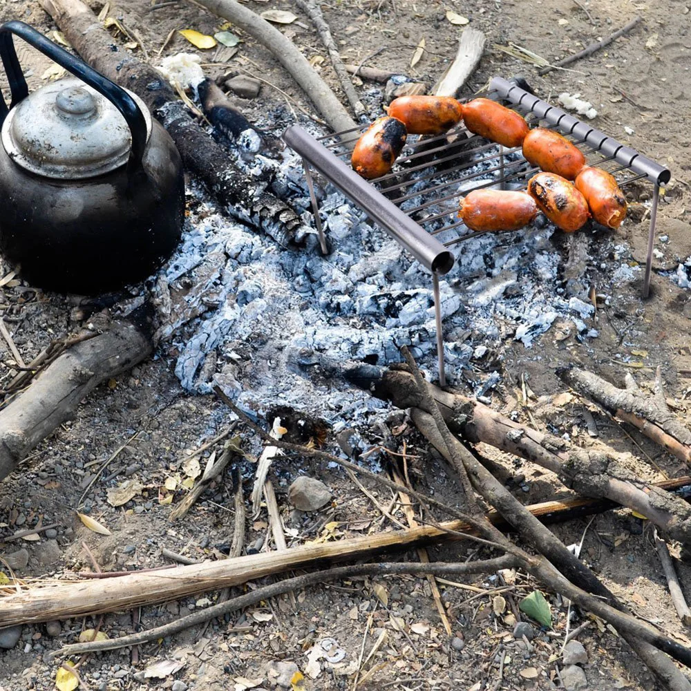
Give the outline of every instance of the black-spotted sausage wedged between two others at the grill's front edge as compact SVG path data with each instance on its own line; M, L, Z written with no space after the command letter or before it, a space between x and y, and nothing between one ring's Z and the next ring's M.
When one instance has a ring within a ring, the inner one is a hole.
M567 233L582 228L590 216L585 197L574 185L554 173L538 173L528 182L528 193L551 222Z

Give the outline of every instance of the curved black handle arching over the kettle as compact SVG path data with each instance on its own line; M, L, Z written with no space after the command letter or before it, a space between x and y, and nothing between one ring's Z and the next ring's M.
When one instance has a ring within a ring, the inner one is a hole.
M10 108L14 108L17 103L25 99L29 94L26 79L24 79L21 66L19 66L19 59L17 59L12 34L19 36L30 46L47 55L59 66L75 75L75 77L82 79L84 84L91 86L95 91L106 97L120 111L132 135L130 163L135 165L141 164L144 157L144 149L146 149L148 132L144 113L142 113L131 95L124 88L117 86L110 79L106 79L95 69L89 67L84 61L70 55L64 48L47 39L35 28L18 20L7 21L0 26L0 58L2 59L10 84L10 93L12 94L9 108L0 94L0 125L4 122Z

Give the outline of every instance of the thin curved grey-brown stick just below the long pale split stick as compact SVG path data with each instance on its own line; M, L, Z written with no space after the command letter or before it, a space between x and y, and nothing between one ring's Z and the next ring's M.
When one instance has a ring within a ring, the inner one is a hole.
M129 636L121 636L120 638L108 639L108 641L66 645L61 648L61 650L51 653L51 656L73 655L81 652L86 653L99 650L117 650L117 648L126 645L138 645L140 643L147 643L148 641L155 641L158 640L158 638L173 636L174 634L189 629L189 627L205 623L209 621L209 619L236 612L236 610L249 607L250 605L256 605L256 603L261 602L261 600L268 600L269 598L283 595L290 591L303 589L310 585L315 585L316 583L328 582L329 580L352 578L354 576L387 574L439 574L442 576L486 574L495 573L499 569L511 568L515 566L515 563L515 558L504 555L494 559L466 562L463 564L447 564L444 562L437 562L436 564L357 564L337 567L335 569L329 569L328 571L313 571L310 574L296 576L295 578L286 578L278 581L278 583L259 587L245 595L241 595L219 605L212 605L211 607L207 607L207 609L201 609L199 612L188 614L187 616L183 616L176 621L156 627L155 629L142 631Z

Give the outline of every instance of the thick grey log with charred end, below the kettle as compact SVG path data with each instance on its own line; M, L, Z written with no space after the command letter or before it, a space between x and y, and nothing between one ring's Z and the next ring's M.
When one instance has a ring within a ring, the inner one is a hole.
M80 401L99 384L130 370L151 352L151 332L144 321L113 322L102 334L65 350L0 410L0 480L73 417Z

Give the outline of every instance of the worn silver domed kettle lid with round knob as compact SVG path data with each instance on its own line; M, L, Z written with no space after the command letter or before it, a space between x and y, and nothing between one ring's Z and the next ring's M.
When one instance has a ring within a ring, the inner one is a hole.
M151 113L137 102L151 135ZM81 79L68 77L39 88L3 122L2 144L22 168L46 178L78 180L125 164L132 136L120 111Z

